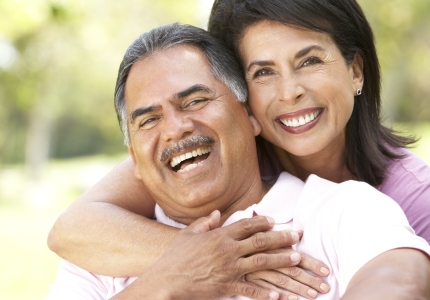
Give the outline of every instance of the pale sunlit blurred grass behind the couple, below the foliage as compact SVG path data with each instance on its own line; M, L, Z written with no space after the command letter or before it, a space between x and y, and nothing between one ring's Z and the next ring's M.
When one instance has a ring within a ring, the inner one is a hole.
M412 149L430 164L430 123L396 124L421 136ZM22 166L0 170L0 299L39 300L49 292L60 259L46 246L57 216L126 154L51 161L38 183Z

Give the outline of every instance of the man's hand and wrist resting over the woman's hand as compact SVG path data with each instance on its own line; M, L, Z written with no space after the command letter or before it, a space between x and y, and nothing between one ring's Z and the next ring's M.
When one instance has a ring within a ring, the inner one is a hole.
M205 299L243 295L278 299L279 293L244 280L244 275L296 265L301 256L289 247L299 240L294 231L268 231L266 217L243 219L216 228L220 213L200 218L181 230L163 257L112 299Z

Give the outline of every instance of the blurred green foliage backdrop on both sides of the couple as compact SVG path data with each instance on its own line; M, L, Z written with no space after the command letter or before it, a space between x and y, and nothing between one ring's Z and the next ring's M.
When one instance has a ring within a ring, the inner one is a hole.
M0 0L0 165L125 151L116 72L142 32L206 26L211 0ZM376 34L388 122L430 120L430 1L359 0ZM206 7L204 7L206 6Z

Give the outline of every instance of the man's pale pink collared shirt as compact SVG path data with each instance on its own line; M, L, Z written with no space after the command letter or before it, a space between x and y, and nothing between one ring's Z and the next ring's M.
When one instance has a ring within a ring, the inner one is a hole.
M331 291L318 299L339 299L352 276L385 251L408 247L430 255L430 246L414 235L402 209L365 183L335 184L311 175L305 184L281 173L260 203L234 213L224 226L250 218L254 212L273 217L274 230L304 231L294 248L323 261L331 269L327 279ZM184 227L168 218L158 206L156 217L161 223ZM135 279L95 275L63 261L47 300L109 299Z

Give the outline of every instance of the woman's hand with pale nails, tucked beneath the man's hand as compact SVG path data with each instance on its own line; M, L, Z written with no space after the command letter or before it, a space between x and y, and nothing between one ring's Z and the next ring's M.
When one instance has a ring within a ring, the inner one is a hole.
M290 249L272 250L268 253L284 251L289 253ZM277 291L280 295L279 299L295 300L298 299L297 295L307 299L315 299L317 293L327 293L330 287L319 276L328 276L328 267L308 255L301 254L301 256L302 259L297 266L249 273L246 275L246 281ZM310 274L305 270L319 276Z

